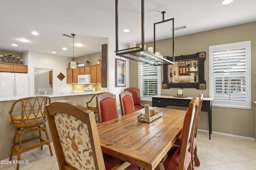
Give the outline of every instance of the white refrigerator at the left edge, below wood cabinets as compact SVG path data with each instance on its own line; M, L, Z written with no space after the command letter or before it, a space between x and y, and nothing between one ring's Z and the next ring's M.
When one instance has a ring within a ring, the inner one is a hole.
M0 72L0 97L28 97L28 74Z

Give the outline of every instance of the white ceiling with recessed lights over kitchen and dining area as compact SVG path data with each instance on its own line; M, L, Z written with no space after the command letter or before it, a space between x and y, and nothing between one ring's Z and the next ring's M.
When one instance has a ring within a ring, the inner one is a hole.
M234 0L222 5L222 0L145 0L145 42L153 41L154 23L174 18L176 36L193 34L256 21L256 0ZM119 40L141 43L140 0L119 0ZM126 19L123 19L126 17ZM121 30L130 29L124 34ZM157 27L158 29L158 27ZM32 31L40 35L34 36ZM157 33L159 30L157 30ZM115 40L115 0L1 0L0 49L16 52L37 51L72 57L72 38L62 34L77 34L74 56L100 51L101 40ZM157 34L157 39L169 38ZM234 35L236 36L236 35ZM29 40L22 43L20 38ZM17 44L13 47L11 44ZM62 50L63 47L68 50Z

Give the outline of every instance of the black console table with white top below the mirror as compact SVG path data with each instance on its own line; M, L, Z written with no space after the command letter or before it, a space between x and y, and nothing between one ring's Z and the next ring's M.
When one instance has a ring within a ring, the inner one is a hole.
M152 97L152 107L166 107L166 106L182 106L188 107L193 97L173 97L158 95ZM209 139L212 133L212 100L213 98L204 97L201 111L208 112L208 125L209 125Z

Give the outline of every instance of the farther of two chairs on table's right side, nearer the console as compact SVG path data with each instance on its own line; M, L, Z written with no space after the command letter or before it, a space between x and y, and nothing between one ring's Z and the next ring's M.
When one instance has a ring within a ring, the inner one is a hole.
M196 140L196 133L197 133L198 123L199 123L201 109L202 109L203 94L199 94L198 98L200 100L200 103L199 103L199 107L198 107L198 117L196 119L196 127L195 127L194 140L193 140L193 148L192 148L193 154L191 154L192 170L194 169L194 163L195 163L196 166L200 166L200 160L198 158L197 148L196 148L196 142L197 142L197 140ZM183 122L183 126L184 126L184 123L185 122ZM180 144L181 144L180 137L178 138L178 140L176 140L176 142L174 144L180 146Z

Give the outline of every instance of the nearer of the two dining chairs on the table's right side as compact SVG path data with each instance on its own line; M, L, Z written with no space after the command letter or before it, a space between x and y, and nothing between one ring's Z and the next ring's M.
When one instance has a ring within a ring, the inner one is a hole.
M191 153L196 128L196 119L198 117L198 109L200 100L198 97L193 97L190 101L188 110L184 117L184 126L180 136L180 146L173 145L169 150L164 168L166 170L187 170L191 169Z

